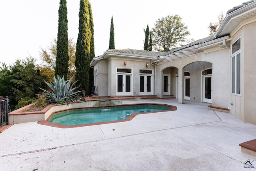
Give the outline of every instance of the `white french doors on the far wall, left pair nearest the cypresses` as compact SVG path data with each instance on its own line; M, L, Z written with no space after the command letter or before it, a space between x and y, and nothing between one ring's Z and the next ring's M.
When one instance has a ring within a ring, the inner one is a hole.
M116 95L132 95L131 77L130 74L117 74Z

